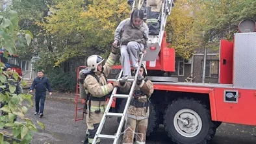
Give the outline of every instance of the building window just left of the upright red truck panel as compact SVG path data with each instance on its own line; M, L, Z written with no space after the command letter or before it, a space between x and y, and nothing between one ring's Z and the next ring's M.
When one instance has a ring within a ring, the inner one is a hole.
M201 77L203 77L203 60L201 65ZM205 77L219 77L219 60L206 60Z

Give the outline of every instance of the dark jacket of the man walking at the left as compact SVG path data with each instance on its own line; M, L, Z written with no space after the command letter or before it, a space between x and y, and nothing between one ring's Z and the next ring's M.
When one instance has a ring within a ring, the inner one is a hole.
M34 81L31 85L30 90L34 90L34 88L36 88L37 92L45 92L46 89L48 89L48 91L51 92L51 84L49 82L49 78L47 77L34 78Z

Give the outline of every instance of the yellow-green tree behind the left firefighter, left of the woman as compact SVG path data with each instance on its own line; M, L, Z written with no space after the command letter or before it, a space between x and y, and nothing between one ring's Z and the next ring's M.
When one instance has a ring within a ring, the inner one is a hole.
M38 23L51 36L53 61L61 62L75 56L105 53L114 39L114 30L129 17L126 1L65 0L51 6L51 16Z

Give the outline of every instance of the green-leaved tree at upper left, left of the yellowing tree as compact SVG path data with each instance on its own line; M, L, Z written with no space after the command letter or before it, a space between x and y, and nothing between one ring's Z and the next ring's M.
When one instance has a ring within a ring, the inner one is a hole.
M38 56L41 49L47 49L49 43L45 43L44 29L36 25L38 21L44 21L49 12L48 5L53 5L52 0L12 0L11 8L19 13L19 29L29 30L34 34L31 45L18 47L18 55L21 58ZM25 41L24 41L25 42ZM22 42L21 42L22 43Z

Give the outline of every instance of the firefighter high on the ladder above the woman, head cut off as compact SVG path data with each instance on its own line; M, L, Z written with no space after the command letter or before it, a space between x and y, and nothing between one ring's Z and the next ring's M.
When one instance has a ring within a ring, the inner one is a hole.
M162 0L147 0L147 27L149 27L149 35L159 34L161 7Z

